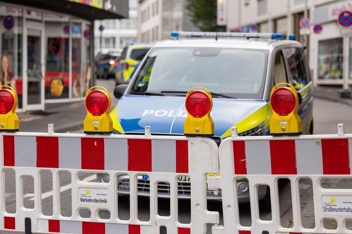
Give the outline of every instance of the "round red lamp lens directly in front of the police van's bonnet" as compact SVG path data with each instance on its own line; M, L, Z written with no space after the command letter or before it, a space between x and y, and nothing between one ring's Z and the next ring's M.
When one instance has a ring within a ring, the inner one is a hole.
M186 99L186 109L193 117L205 116L210 110L211 102L209 97L201 92L194 91Z

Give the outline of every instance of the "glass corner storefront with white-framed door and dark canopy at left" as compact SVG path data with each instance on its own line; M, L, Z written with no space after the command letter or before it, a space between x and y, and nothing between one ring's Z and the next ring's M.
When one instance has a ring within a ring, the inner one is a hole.
M94 83L93 20L128 17L128 0L10 2L0 1L0 84L16 90L19 111L83 100Z

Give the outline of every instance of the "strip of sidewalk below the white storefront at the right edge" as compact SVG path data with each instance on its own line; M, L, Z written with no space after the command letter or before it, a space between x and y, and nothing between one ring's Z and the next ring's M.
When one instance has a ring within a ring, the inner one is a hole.
M341 88L317 86L313 88L313 96L315 98L326 99L333 102L341 102L352 106L352 98L340 98L340 91Z

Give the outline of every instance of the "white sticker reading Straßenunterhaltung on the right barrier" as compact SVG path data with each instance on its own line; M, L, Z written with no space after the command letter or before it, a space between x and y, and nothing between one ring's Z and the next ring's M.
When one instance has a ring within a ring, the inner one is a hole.
M352 196L322 196L324 214L352 215Z

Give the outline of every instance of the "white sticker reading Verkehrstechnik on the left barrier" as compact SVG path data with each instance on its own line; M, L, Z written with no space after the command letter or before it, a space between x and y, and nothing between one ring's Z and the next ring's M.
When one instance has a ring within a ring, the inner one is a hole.
M88 204L108 205L108 189L79 188L78 202Z

